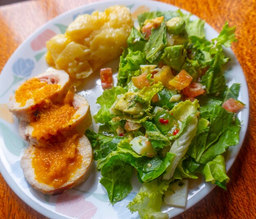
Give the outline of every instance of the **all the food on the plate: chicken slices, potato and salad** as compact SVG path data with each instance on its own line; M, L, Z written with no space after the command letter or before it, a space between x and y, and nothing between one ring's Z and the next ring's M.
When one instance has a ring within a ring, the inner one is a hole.
M9 103L30 143L21 159L29 184L49 195L76 186L90 175L93 148L112 204L137 174L141 188L128 208L144 219L167 219L162 202L186 206L188 179L202 175L226 189L225 152L239 142L244 107L240 84L227 85L223 70L222 46L236 41L235 27L225 23L209 41L204 21L190 17L145 12L135 28L129 9L117 5L79 15L47 42L46 61L58 70L27 80ZM74 85L119 55L117 86L110 68L100 71L102 87L111 88L97 99L96 133Z

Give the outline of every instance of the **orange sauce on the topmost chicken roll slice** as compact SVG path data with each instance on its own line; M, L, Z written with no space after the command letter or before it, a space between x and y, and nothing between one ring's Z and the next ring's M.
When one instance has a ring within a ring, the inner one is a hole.
M15 91L16 102L20 103L21 107L25 106L30 99L33 99L35 103L42 102L56 93L60 87L61 85L58 84L47 84L38 78L31 78Z

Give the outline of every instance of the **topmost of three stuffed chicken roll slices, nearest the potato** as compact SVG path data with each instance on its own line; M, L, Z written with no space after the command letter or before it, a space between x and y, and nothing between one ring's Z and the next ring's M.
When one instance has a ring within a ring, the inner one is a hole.
M47 71L25 81L10 97L8 107L18 119L30 122L42 108L61 102L70 88L65 71Z

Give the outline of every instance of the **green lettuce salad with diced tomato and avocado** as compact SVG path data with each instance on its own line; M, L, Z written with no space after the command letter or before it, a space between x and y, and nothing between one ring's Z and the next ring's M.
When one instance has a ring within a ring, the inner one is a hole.
M99 132L86 131L112 204L130 193L137 174L141 188L127 207L143 219L167 219L163 202L185 206L186 179L202 175L226 189L225 152L239 142L244 104L240 84L226 84L222 49L236 41L235 27L226 22L209 41L204 21L190 17L180 10L138 16L117 86L97 99Z

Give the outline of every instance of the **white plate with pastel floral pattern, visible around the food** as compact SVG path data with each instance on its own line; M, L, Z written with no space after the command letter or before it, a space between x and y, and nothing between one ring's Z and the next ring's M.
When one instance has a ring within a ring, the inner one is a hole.
M130 8L133 17L136 17L138 13L144 11L167 11L178 9L170 4L144 0L112 0L84 5L63 13L47 22L43 27L40 27L40 29L34 32L13 53L0 74L0 171L9 186L23 201L41 214L52 219L139 218L137 213L131 214L126 208L128 201L135 197L135 194L140 187L136 177L133 179L133 190L130 195L123 201L115 204L115 206L110 204L106 190L99 184L100 173L95 171L95 167L87 181L62 195L50 197L32 189L29 184L27 184L22 169L20 168L20 158L27 146L27 142L24 142L19 137L18 119L13 118L12 115L8 113L5 105L9 100L9 96L13 94L15 89L22 82L47 69L48 66L43 57L46 52L46 40L56 33L63 33L65 27L70 24L78 14L91 13L94 10L103 11L105 8L114 4L127 5ZM183 12L187 13L186 11ZM192 16L192 19L195 18L195 16ZM208 39L218 35L218 33L208 24L205 25L205 30ZM239 100L246 104L243 111L238 114L240 121L242 121L240 143L237 146L230 147L227 155L227 170L229 170L238 155L245 137L249 115L249 100L243 71L231 49L226 49L225 51L231 58L231 68L226 73L227 82L239 82L241 84ZM106 66L117 66L117 64L118 60L113 61ZM80 90L79 93L85 96L90 102L92 114L96 113L99 109L99 106L95 104L96 98L102 93L99 74L91 75L88 78L88 82L85 83L84 89ZM95 125L94 128L96 128ZM192 181L189 188L189 197L186 208L164 207L162 210L168 212L170 217L174 217L200 201L214 188L214 186L210 183L204 183L203 179L198 179Z

